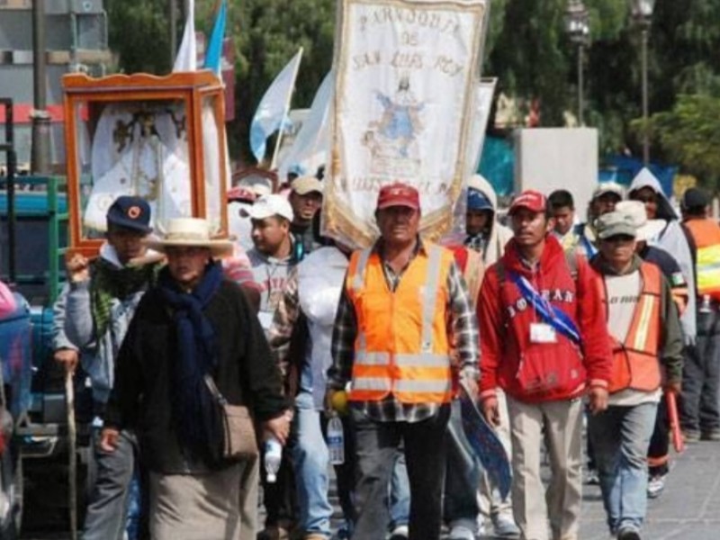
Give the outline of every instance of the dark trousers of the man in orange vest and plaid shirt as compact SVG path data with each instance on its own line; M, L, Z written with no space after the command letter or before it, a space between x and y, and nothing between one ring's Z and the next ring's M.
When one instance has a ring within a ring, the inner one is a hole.
M420 422L378 422L351 411L356 433L357 523L353 540L378 540L388 527L388 485L405 445L410 480L410 540L437 540L442 521L449 405Z

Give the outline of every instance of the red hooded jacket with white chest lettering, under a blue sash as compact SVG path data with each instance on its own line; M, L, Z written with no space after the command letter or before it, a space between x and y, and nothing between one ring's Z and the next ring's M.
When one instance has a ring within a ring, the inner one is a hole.
M527 402L566 400L590 386L608 386L612 351L597 280L585 257L577 257L573 279L563 247L551 235L535 270L520 260L515 240L482 282L477 313L481 336L481 399L500 386ZM526 302L510 273L524 275L538 293L567 313L581 334L581 346L556 332L555 343L532 343L530 325L544 322ZM502 284L500 284L502 281ZM502 288L502 291L500 291Z

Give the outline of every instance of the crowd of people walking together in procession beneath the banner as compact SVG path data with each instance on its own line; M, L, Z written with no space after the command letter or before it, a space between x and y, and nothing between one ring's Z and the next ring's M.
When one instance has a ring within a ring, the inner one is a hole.
M157 540L577 540L583 476L611 535L638 540L670 471L666 397L687 443L720 440L720 226L701 190L679 217L643 169L599 184L585 221L571 193L525 191L503 224L475 175L464 242L433 243L418 191L393 183L378 239L353 250L320 234L322 180L286 187L234 190L240 238L222 239L196 218L156 236L147 202L122 196L99 256L67 260L55 356L92 381L86 540L128 535L131 506L132 536ZM504 500L460 392L509 455ZM257 429L242 455L228 404Z

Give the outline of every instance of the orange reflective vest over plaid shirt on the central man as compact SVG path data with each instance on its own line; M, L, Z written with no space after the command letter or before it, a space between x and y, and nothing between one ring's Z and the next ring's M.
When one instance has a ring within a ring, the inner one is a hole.
M353 254L346 283L357 320L350 401L391 393L401 403L451 400L446 306L453 260L449 250L426 243L392 292L377 253Z

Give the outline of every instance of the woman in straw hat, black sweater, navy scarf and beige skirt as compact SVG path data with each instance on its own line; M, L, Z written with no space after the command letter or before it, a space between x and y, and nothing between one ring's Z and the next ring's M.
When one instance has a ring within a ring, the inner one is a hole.
M254 538L247 509L255 513L256 460L222 457L205 375L284 443L290 425L280 372L267 361L266 338L245 294L215 260L231 253L232 242L211 238L206 220L180 218L148 246L166 254L167 266L122 344L103 447L112 452L119 429L137 426L153 538Z

